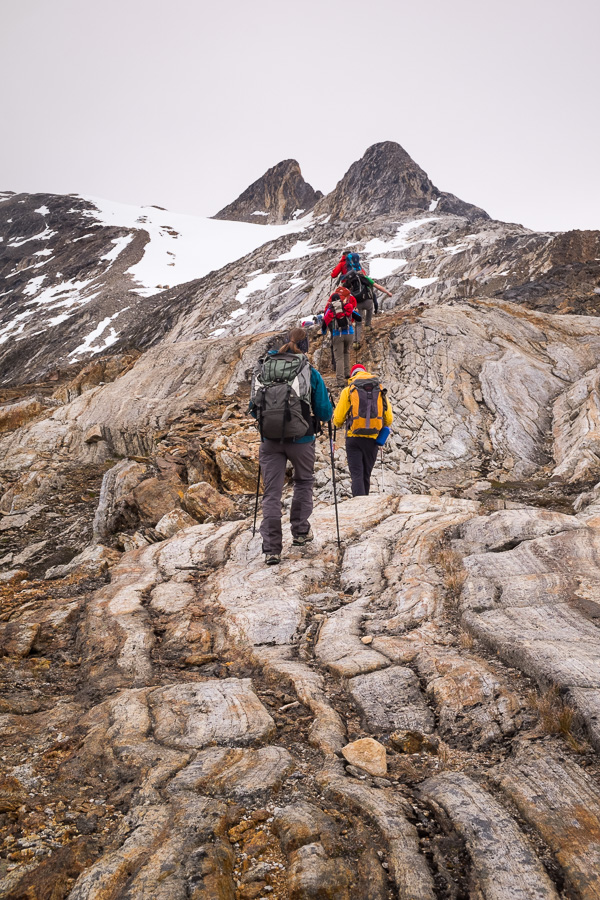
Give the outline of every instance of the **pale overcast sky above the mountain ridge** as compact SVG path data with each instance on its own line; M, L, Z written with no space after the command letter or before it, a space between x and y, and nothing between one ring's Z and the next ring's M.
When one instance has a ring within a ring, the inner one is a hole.
M0 0L0 190L210 215L398 141L442 190L600 228L598 0Z

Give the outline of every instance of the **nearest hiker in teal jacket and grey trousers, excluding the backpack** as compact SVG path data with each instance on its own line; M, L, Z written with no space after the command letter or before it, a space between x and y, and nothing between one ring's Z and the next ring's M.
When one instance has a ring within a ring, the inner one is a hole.
M276 356L277 353L288 353L303 356L299 344L307 340L304 328L293 328L289 337L289 342L280 347L279 351L270 350L269 354ZM310 410L313 423L305 435L283 440L261 437L259 462L263 477L263 519L260 533L268 566L281 562L283 548L281 495L288 461L294 469L294 493L290 509L292 544L303 546L313 539L309 518L313 509L315 431L321 422L328 422L331 419L333 407L325 382L317 369L312 366L310 366ZM256 407L251 407L251 412L256 417Z

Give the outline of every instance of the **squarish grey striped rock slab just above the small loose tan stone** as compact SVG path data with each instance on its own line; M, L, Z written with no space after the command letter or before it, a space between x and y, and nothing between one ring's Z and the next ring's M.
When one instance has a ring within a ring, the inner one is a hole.
M370 731L433 731L433 713L412 669L391 666L379 672L357 675L348 690Z

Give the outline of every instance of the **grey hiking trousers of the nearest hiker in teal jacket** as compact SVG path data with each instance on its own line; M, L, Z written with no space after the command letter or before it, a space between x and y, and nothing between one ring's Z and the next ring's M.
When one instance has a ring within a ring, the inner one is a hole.
M287 441L262 441L258 456L263 477L263 520L260 533L263 553L281 553L281 494L285 481L285 468L289 460L294 467L294 495L290 509L290 527L293 537L306 534L310 528L309 517L313 506L313 482L315 470L315 442L295 444Z

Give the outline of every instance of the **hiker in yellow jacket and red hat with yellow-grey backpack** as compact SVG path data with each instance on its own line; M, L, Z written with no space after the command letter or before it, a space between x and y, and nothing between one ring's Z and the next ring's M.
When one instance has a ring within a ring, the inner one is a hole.
M377 459L379 432L394 421L392 407L379 379L364 366L352 366L348 387L341 393L333 424L346 423L346 456L352 479L352 496L364 497L371 488L371 472Z

